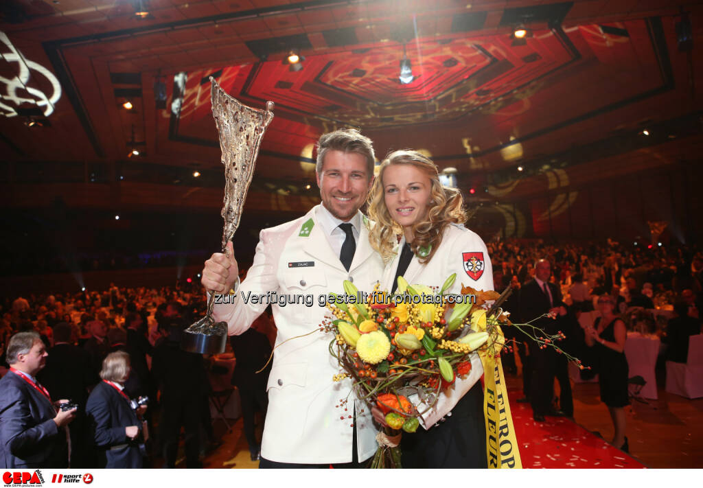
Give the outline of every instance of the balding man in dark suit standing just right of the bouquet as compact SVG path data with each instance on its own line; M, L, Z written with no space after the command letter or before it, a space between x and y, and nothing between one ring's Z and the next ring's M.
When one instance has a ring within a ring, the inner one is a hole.
M551 273L551 265L546 259L536 262L534 279L525 283L520 289L518 316L520 322L524 323L543 314L555 314L556 320L542 318L533 323L550 335L557 333L558 330L567 333L572 317L568 315L559 287L549 283ZM543 422L546 415L572 417L574 403L565 358L557 354L552 347L540 349L539 344L534 340L528 340L528 342L532 366L530 403L534 420ZM553 411L551 408L555 375L561 390L561 411Z

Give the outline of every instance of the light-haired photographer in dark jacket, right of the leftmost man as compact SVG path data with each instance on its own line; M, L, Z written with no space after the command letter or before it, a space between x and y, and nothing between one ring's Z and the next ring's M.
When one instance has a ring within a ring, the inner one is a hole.
M146 407L134 411L123 391L129 369L127 352L108 354L100 371L103 380L88 397L86 413L98 447L98 468L141 468L143 464L137 413L143 413Z

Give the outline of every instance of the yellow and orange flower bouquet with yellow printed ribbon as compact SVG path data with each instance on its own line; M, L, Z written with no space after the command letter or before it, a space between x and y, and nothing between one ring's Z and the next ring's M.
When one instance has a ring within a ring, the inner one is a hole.
M462 287L461 295L445 295L455 280L453 274L439 290L433 290L425 285L409 285L399 277L394 295L380 291L378 284L372 293L360 293L344 281L346 296L330 295L327 307L334 317L325 320L321 328L335 334L330 354L339 361L342 371L334 380L351 378L357 396L378 409L387 424L376 437L379 448L370 468L401 468L401 431L415 432L421 416L437 404L442 390L451 387L457 377L470 373L472 352L479 354L486 373L484 412L489 465L494 461L495 467L505 467L498 465L504 445L499 437L505 435L504 423L509 423L516 448L503 463L514 467L517 456L520 467L502 381L499 354L505 338L501 326L517 326L543 347L554 346L564 335L547 335L529 323L510 323L508 312L500 308L510 288L503 295L467 287ZM494 301L490 309L489 301ZM496 409L496 405L501 408ZM500 412L502 418L489 424L489 410L496 415ZM496 430L497 425L501 425L501 432Z

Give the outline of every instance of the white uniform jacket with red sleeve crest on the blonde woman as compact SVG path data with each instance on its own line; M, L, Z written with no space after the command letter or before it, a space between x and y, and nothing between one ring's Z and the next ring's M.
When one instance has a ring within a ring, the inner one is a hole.
M405 245L403 237L396 248L395 257L387 263L381 281L382 290L391 290L400 250ZM439 248L429 262L422 264L417 256L413 256L403 277L408 283L436 287L439 291L446 278L456 273L456 281L445 293L460 294L462 283L475 290L493 290L493 269L491 258L483 240L477 233L464 226L451 224L447 226L442 236ZM483 375L483 365L478 354L471 354L471 372L465 378L457 378L455 384L440 394L434 407L423 415L423 426L429 429L442 417L446 416L463 395ZM414 396L414 395L413 395Z

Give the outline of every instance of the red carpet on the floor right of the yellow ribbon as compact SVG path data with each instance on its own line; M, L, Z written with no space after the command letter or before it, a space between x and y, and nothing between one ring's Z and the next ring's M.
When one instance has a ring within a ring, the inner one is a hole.
M515 400L522 391L508 390L523 468L646 468L628 454L564 417L532 420L529 404Z

